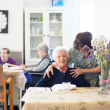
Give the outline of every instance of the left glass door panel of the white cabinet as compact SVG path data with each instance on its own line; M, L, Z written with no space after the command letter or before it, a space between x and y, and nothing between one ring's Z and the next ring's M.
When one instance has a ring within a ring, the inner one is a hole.
M32 12L29 17L30 21L30 59L39 58L37 46L43 42L43 13Z

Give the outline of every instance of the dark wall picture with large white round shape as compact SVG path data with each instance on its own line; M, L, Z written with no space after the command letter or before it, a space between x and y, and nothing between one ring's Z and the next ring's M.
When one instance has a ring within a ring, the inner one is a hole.
M0 10L0 33L8 33L8 10Z

